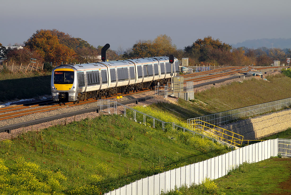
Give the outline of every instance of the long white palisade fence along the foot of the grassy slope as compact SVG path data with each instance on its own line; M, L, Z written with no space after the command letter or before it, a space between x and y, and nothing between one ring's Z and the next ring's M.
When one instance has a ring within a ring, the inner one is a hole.
M288 140L289 144L291 140ZM286 139L283 144L286 144ZM280 145L279 145L280 147ZM290 147L289 147L290 148ZM191 184L199 184L205 178L217 179L225 176L230 169L241 165L244 162L259 162L277 156L278 139L266 140L263 142L248 145L226 154L204 160L199 163L186 165L173 170L165 171L157 175L143 178L132 182L128 185L115 189L106 195L157 195L178 188L181 185L190 186ZM289 150L290 152L290 150Z

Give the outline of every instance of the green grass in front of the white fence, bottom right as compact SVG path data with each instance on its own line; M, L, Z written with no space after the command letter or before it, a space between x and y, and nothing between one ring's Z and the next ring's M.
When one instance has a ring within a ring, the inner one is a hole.
M226 176L214 180L218 189L208 182L208 185L184 186L166 195L291 194L290 172L290 159L275 157L258 163L243 163Z

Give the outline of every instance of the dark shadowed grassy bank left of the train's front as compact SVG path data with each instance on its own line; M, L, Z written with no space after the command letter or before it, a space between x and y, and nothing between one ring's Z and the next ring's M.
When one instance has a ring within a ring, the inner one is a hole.
M51 72L0 74L0 102L51 94Z

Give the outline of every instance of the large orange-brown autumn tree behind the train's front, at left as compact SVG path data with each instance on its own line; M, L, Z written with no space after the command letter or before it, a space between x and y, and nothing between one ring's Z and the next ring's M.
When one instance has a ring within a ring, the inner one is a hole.
M26 48L36 50L45 61L57 64L71 62L77 55L74 50L61 44L58 37L52 35L51 30L37 30L24 45Z

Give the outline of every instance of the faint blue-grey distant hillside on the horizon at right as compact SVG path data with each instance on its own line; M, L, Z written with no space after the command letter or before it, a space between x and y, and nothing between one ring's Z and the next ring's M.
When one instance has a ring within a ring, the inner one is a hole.
M257 49L259 47L267 47L272 48L272 44L274 48L291 48L291 39L254 39L254 40L246 40L242 43L232 44L234 48L237 47L247 47Z

